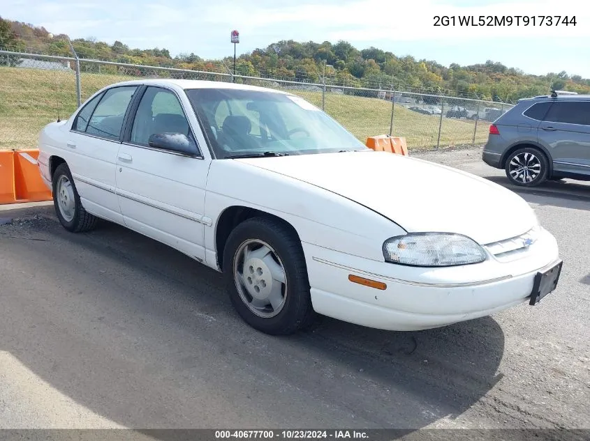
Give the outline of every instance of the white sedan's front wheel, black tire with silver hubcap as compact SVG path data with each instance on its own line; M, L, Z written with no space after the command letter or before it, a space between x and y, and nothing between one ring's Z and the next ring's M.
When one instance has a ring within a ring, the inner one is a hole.
M314 311L301 242L278 220L255 217L230 233L223 253L230 300L239 316L266 334L293 334Z

